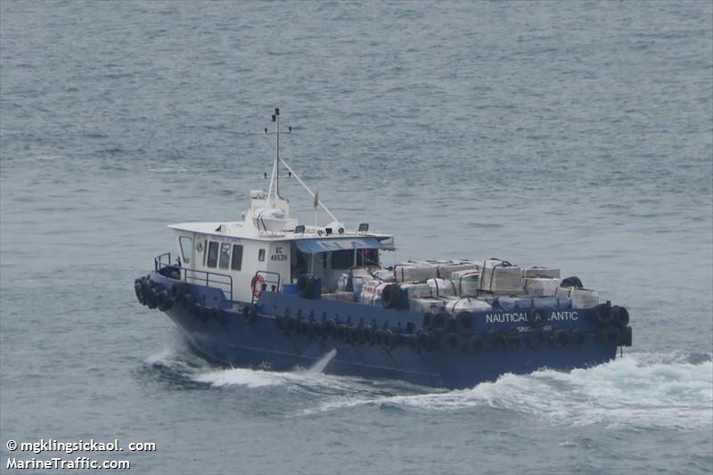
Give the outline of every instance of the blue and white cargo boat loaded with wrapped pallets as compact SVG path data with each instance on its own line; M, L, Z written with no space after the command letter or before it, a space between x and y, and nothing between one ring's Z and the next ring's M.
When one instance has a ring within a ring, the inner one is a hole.
M383 265L394 236L340 222L280 157L279 109L272 119L267 190L250 192L241 220L169 225L175 253L135 279L136 299L167 314L201 356L274 371L329 356L324 373L462 389L602 364L631 346L627 308L557 268L503 258ZM281 173L331 222L291 217Z

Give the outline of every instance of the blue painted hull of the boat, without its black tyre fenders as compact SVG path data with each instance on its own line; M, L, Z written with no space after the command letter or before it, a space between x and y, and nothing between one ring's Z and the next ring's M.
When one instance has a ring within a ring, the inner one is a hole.
M177 282L155 273L151 280L166 289ZM194 284L188 285L188 290L204 307L222 307L222 310L215 315L197 316L176 300L164 311L199 353L226 365L289 371L296 366L315 364L335 349L336 355L324 373L463 389L483 381L495 381L504 373L531 373L541 368L567 371L602 364L616 357L617 346L622 344L620 337L602 341L598 336L601 328L589 310L554 312L541 329L545 340L539 343L528 340L528 332L535 329L523 323L517 313L502 311L475 314L471 334L481 335L486 341L477 352L447 347L443 344L443 335L433 339L434 348L420 350L410 348L406 340L410 333L422 328L423 315L409 310L263 292L255 304L257 315L248 321L234 307L228 307L222 291ZM385 348L379 344L356 344L336 338L322 339L314 334L283 332L278 328L278 315L281 318L294 315L308 322L333 319L360 328L367 325L390 328L398 333L397 346ZM550 336L557 330L570 333L575 329L580 329L582 339L577 345L556 345L551 340ZM619 332L626 333L626 330L619 329ZM519 335L520 341L509 344L504 340L504 335L512 334Z

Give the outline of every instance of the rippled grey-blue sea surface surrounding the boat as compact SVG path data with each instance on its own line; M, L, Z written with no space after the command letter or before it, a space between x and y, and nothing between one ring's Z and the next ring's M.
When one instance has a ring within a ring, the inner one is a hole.
M133 280L166 225L241 217L275 107L387 262L560 267L634 346L457 391L194 356ZM41 438L155 443L132 473L713 471L708 1L3 0L0 199L0 471Z

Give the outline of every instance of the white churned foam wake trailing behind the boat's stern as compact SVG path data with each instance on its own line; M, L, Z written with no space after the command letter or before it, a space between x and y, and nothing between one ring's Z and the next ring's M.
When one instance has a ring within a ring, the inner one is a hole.
M693 429L710 425L713 363L652 363L652 359L657 358L632 355L570 373L505 374L496 382L440 394L343 397L304 414L356 405L397 405L426 412L488 406L572 426Z

